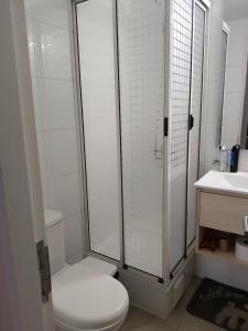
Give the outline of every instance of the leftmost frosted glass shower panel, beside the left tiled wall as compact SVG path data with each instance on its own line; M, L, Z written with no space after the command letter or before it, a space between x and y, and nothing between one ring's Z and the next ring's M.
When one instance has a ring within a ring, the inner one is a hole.
M77 3L90 249L120 258L120 190L111 0Z

